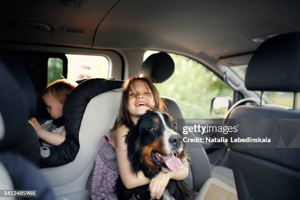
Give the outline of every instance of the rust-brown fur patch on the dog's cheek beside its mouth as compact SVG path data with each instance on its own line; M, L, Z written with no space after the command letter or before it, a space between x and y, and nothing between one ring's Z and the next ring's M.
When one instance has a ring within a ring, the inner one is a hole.
M152 152L152 150L157 150L157 151L161 152L162 146L163 146L163 138L159 137L157 140L152 142L150 145L145 146L141 153L141 161L148 166L149 170L151 168L152 169L156 168L155 171L157 171L157 173L159 172L159 168L153 163L153 161L151 159L151 152ZM161 153L164 153L164 152L161 152Z

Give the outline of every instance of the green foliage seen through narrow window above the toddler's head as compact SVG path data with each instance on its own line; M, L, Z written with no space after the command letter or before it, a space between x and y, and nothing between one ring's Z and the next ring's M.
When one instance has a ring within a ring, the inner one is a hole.
M48 85L57 79L62 78L63 61L60 58L48 59Z

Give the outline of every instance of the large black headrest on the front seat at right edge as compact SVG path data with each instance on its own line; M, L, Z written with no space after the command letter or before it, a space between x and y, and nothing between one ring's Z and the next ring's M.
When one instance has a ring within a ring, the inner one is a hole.
M300 32L275 36L254 52L245 77L248 90L300 91Z

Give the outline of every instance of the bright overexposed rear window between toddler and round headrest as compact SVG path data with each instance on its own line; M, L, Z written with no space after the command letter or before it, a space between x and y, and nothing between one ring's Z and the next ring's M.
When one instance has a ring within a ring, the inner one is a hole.
M66 54L68 58L68 79L108 78L108 59L98 55Z

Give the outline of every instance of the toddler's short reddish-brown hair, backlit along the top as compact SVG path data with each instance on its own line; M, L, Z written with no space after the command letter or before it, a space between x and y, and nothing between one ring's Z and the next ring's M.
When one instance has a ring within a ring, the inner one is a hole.
M71 82L67 79L55 80L46 87L43 96L51 94L56 100L65 103L68 95L77 85L76 82Z

